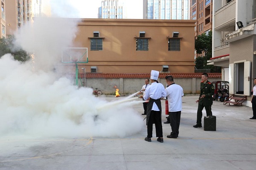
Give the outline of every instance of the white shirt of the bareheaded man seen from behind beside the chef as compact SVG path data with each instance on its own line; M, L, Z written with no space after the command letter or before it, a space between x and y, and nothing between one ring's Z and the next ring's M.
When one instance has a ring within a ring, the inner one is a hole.
M180 85L172 84L166 88L168 98L169 112L177 112L182 110L183 88Z

